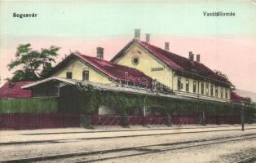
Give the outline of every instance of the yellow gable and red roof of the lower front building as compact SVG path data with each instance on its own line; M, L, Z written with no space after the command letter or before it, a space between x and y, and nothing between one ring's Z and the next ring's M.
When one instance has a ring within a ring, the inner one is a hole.
M114 64L104 59L82 55L80 53L68 55L60 64L53 68L53 76L66 77L67 72L73 73L73 79L82 80L82 71L89 71L89 81L103 84L115 84L121 81L132 81L136 86L147 81L148 88L152 87L152 78L135 68ZM114 82L114 83L113 83Z

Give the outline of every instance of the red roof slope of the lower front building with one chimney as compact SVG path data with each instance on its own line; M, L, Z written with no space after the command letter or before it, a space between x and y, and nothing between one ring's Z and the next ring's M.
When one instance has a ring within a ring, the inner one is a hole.
M112 62L109 62L104 59L98 59L96 57L91 57L88 55L81 55L81 54L75 54L79 58L85 60L87 63L91 64L95 68L99 69L103 73L106 73L108 76L113 77L115 79L121 80L121 81L135 81L135 84L139 84L140 82L148 81L148 87L152 87L152 78L148 77L141 71L135 68L130 68L127 66L123 66L120 64L113 64Z

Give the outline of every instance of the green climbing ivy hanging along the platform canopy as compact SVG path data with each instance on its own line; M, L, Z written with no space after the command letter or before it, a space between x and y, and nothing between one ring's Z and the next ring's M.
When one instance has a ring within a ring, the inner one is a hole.
M127 117L130 108L161 109L166 114L183 114L183 112L193 112L201 116L201 112L206 112L210 116L240 115L241 105L230 103L219 103L211 101L200 101L192 99L174 99L159 95L135 95L120 91L108 90L69 90L69 100L62 99L65 106L73 104L72 108L66 108L65 112L76 110L85 115L97 112L101 105L115 106L119 109L122 117ZM61 98L60 98L61 99ZM71 100L70 100L71 99ZM67 104L68 103L68 104ZM61 104L61 103L60 103ZM76 108L76 109L73 109ZM63 108L60 108L63 110ZM255 108L246 107L248 116L255 114ZM186 115L184 115L186 116Z

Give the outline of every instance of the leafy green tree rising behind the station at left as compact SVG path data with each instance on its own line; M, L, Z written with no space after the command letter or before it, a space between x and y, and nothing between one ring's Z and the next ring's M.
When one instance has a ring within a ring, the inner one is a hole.
M7 65L9 70L19 68L13 73L11 81L35 81L39 77L46 77L51 72L59 50L60 47L51 46L49 49L33 51L29 43L18 46L15 60L11 60L11 64Z

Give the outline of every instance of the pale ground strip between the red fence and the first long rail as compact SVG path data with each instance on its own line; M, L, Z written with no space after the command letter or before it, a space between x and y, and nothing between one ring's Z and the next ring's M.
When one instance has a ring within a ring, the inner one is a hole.
M196 132L196 131L207 131L207 130L240 130L241 126L229 126L229 127L197 127L186 129L184 126L174 126L173 130L134 130L130 131L126 129L121 132L95 132L95 133L79 133L89 131L102 131L102 130L82 130L79 128L75 129L61 129L61 130L26 130L26 131L1 131L0 132L0 143L6 142L27 142L27 141L43 141L43 140L60 140L60 139L88 139L88 138L99 138L99 137L117 137L117 136L129 136L129 135L143 135L143 134L170 134L180 132ZM247 126L247 128L256 128L256 126ZM167 128L165 128L167 129ZM169 128L170 129L170 128ZM77 133L73 133L77 132ZM46 134L43 134L46 133ZM60 134L49 134L49 133L60 133ZM68 134L70 133L70 134Z

